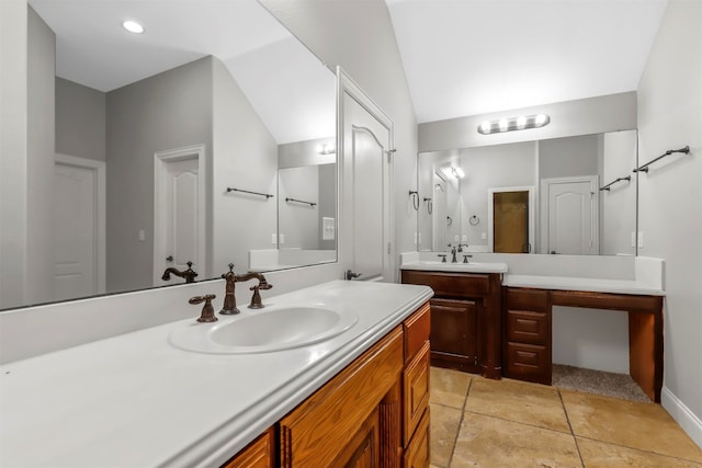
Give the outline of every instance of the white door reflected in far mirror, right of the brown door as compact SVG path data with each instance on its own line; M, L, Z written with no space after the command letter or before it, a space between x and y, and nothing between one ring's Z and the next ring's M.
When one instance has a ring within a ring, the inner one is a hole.
M597 176L542 181L546 253L598 254L597 186Z

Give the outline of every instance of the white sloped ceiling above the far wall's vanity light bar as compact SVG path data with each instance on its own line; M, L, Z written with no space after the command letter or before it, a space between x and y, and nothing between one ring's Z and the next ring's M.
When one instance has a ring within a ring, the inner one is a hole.
M634 91L667 0L386 0L418 122Z

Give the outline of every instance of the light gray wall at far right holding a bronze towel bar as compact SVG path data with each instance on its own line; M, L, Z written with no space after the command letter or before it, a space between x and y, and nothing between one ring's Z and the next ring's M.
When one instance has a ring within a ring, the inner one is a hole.
M671 0L638 84L641 254L665 259L664 407L702 446L702 2ZM692 420L697 418L697 422Z

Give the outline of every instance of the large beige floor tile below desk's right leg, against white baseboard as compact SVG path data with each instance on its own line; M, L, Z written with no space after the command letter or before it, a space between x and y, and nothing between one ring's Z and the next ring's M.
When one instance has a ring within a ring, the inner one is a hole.
M702 449L659 404L565 390L561 395L575 435L702 463Z

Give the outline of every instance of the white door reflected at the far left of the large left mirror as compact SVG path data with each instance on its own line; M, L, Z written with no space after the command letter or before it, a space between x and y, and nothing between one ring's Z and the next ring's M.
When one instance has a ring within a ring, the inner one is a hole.
M104 163L60 155L54 168L54 299L104 293Z

